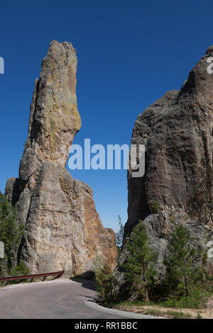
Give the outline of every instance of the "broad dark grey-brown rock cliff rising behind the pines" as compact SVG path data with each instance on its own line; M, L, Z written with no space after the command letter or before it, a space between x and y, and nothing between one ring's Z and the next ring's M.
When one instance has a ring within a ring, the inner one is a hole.
M207 248L213 240L213 74L207 71L209 57L213 57L213 47L191 70L180 91L169 91L146 108L133 128L131 144L146 146L146 171L141 178L133 178L131 169L128 172L125 237L143 220L161 267L174 225L186 225L197 246Z

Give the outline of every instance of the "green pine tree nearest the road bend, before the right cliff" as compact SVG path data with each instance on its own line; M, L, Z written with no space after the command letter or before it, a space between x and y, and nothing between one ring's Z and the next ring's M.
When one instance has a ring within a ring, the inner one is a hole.
M141 221L133 228L131 239L126 242L126 251L124 277L131 284L131 289L137 295L142 295L148 302L149 291L154 286L156 272L153 267L153 250Z

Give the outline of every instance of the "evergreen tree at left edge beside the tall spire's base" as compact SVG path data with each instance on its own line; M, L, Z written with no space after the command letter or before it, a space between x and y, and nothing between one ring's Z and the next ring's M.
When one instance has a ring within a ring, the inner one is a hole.
M0 240L4 242L8 273L16 264L16 254L23 230L23 225L16 222L16 208L13 208L7 198L0 192ZM2 270L1 266L0 270Z

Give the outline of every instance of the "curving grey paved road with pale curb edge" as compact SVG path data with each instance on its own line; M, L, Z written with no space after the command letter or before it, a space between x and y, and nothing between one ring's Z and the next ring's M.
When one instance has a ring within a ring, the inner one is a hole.
M91 299L94 296L94 283L87 280L61 279L6 286L0 288L0 318L124 319L131 317L128 312L122 315L122 312L110 310L107 312L99 305L89 303L88 298Z

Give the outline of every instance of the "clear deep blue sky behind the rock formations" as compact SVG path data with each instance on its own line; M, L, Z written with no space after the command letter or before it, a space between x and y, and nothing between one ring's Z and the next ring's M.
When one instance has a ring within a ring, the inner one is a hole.
M212 1L1 1L0 189L18 176L35 77L50 41L77 49L82 129L74 143L130 144L137 115L180 89L213 44ZM105 227L126 222L126 171L72 171L92 186Z

